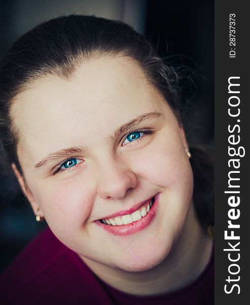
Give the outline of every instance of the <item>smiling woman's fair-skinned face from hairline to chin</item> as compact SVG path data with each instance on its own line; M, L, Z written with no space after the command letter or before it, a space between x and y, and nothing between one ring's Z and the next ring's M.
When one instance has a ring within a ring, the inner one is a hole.
M102 57L70 80L40 79L12 116L26 196L61 242L129 271L167 257L188 219L193 174L183 131L138 64Z

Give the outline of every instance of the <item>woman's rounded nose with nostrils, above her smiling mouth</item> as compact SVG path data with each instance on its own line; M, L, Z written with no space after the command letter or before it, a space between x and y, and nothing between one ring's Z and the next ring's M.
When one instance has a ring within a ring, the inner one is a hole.
M103 199L123 199L137 186L137 177L130 169L112 162L101 169L97 193Z

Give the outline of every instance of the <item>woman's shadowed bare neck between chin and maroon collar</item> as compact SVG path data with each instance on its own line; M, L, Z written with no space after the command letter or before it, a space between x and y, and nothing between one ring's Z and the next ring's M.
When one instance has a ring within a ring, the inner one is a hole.
M198 224L192 205L171 252L150 270L128 272L82 259L101 280L116 289L134 295L157 295L181 289L196 280L209 261L212 242Z

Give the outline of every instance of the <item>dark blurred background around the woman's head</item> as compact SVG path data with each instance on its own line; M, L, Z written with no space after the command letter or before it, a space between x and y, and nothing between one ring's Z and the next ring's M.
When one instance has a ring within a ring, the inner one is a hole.
M197 71L197 89L187 108L185 130L191 145L212 149L213 12L209 0L1 0L0 55L29 29L61 15L96 15L130 23L158 45L161 55L185 55L186 63ZM1 271L46 223L36 222L13 174L1 163L0 190Z

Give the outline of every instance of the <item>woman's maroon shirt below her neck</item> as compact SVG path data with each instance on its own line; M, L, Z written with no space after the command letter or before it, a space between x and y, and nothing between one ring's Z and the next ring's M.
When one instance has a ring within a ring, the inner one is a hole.
M4 304L211 305L214 259L191 285L158 296L134 296L100 280L78 257L46 229L38 235L0 278Z

